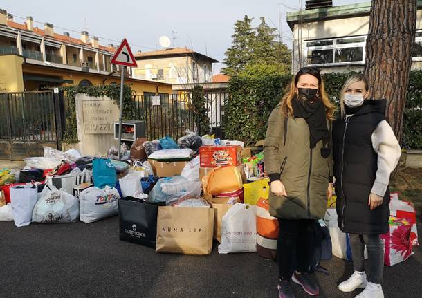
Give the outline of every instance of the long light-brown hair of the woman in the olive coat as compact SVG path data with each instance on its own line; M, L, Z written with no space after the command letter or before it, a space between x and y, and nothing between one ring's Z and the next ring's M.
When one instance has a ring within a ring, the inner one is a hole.
M289 117L289 116L294 117L291 101L296 96L295 89L296 89L297 81L299 80L299 77L304 74L305 73L297 73L296 77L294 77L291 80L290 86L288 86L288 88L286 89L286 93L282 97L282 100L281 100L282 113L284 113L286 117ZM334 117L336 106L333 103L331 103L331 100L329 100L327 92L325 92L324 80L322 80L322 77L317 77L317 79L319 81L317 97L319 100L322 100L322 103L324 104L325 109L327 110L326 117L327 119L331 121L336 120L336 118Z

